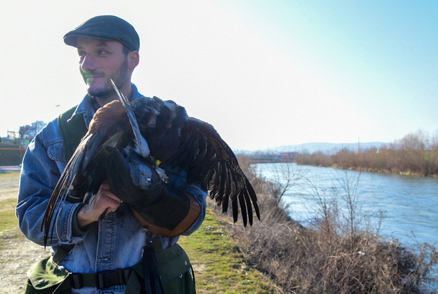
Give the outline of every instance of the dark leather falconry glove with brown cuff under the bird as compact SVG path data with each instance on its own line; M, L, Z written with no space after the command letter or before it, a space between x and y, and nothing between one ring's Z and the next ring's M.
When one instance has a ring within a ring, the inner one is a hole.
M161 236L177 236L197 220L201 206L196 199L164 183L155 168L133 149L126 157L119 149L107 150L111 192L130 204L143 227Z

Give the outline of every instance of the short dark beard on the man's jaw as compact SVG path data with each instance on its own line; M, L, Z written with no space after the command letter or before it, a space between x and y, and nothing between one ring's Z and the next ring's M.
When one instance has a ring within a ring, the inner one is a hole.
M90 78L92 74L103 76L105 79L104 85L95 85L95 81ZM87 84L88 95L103 100L109 99L115 93L109 78L113 79L117 88L121 89L122 86L128 81L128 60L126 58L117 71L113 72L112 74L108 75L105 72L82 72L82 77Z

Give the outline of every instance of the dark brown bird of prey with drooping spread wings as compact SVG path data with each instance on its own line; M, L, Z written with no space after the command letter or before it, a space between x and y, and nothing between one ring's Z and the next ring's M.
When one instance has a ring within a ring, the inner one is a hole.
M71 187L80 182L82 192L92 195L111 176L111 170L117 169L117 166L108 166L106 160L113 149L120 150L130 161L136 157L148 162L159 161L163 169L186 170L188 183L209 190L211 199L222 206L222 213L227 212L231 202L234 222L238 219L239 206L245 226L247 222L252 224L252 209L260 219L257 196L250 181L232 149L211 124L188 117L185 108L171 100L140 97L129 102L113 86L120 101L112 101L95 113L88 133L54 188L42 223L44 243L47 244L51 221L62 208ZM159 167L157 172L165 179ZM147 181L141 177L143 172L138 169L131 171L132 181L124 185L147 188Z

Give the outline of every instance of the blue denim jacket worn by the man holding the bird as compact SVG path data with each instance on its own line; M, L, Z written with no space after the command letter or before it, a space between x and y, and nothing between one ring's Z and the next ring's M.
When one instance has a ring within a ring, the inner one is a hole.
M135 85L132 85L132 99L141 97ZM95 111L92 98L83 98L74 115L83 114L86 125L90 124ZM19 227L27 238L43 245L41 224L60 174L65 169L65 151L63 137L55 119L44 127L32 140L24 155L22 172L19 181L19 195L16 208ZM198 229L205 218L206 191L199 186L186 183L186 174L170 172L170 186L190 193L202 206L202 213L184 235ZM63 209L54 221L53 238L49 237L48 245L56 251L60 244L74 244L74 248L63 260L62 265L70 272L102 272L127 268L139 263L142 249L145 246L145 229L133 217L129 207L120 207L106 215L104 220L94 222L87 231L72 231L74 216L81 204L63 203ZM52 224L53 225L53 224ZM163 247L175 245L179 236L159 237ZM124 293L124 286L107 289L82 288L72 293Z

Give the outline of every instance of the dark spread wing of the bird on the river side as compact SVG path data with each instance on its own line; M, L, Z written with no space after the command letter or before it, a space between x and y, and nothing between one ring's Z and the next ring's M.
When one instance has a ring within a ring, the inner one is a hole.
M243 174L232 149L220 138L216 129L206 122L188 117L181 129L181 145L169 163L188 167L189 183L199 183L210 191L211 199L228 210L231 201L233 219L240 206L243 224L252 224L252 209L260 219L257 195Z

